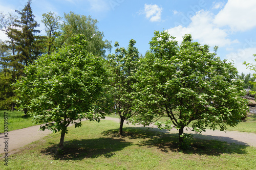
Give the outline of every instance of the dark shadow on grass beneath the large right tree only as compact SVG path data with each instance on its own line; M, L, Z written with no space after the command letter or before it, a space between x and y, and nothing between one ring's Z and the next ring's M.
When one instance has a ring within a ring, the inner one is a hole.
M246 143L240 142L229 137L233 143L227 143L219 140L208 140L210 135L203 135L204 138L198 138L194 136L190 139L186 139L186 149L181 149L178 142L178 134L162 134L161 137L154 137L148 139L140 145L147 145L147 147L157 147L160 151L168 152L182 152L184 154L196 154L207 156L220 156L222 154L246 154L246 148L249 147ZM214 136L215 137L215 136ZM236 143L234 143L236 141Z

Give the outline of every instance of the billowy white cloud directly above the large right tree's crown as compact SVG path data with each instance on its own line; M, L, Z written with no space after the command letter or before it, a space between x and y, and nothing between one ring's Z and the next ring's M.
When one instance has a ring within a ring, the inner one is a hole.
M191 17L191 22L188 27L177 26L168 29L170 35L177 37L176 40L182 41L182 36L191 34L194 40L202 44L210 46L218 45L220 47L237 43L238 40L231 41L227 38L227 30L219 29L214 23L212 13L201 10Z

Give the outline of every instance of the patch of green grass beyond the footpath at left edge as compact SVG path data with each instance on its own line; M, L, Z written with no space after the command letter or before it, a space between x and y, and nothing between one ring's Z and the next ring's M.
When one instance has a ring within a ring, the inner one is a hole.
M19 111L4 111L0 110L0 133L4 132L4 112L8 113L6 114L8 117L8 131L13 131L17 129L23 129L30 126L34 126L32 124L32 118L30 116L25 117L24 112Z

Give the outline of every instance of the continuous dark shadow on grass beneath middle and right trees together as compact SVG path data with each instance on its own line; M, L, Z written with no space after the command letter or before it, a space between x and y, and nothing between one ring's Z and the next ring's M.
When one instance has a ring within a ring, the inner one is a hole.
M197 154L197 155L209 155L209 156L220 156L221 154L246 154L246 148L248 145L244 142L240 142L229 137L210 136L210 135L199 135L193 134L195 137L187 139L188 147L186 150L179 148L178 133L163 133L155 130L157 128L148 129L145 128L124 128L124 135L122 138L128 139L144 139L140 141L138 145L147 146L148 148L157 148L158 150L168 152L182 152L184 154ZM119 137L118 129L108 130L102 132L105 136ZM199 136L203 136L200 139ZM218 138L222 140L225 138L234 143L227 143L225 141L215 140ZM212 139L212 140L209 140Z

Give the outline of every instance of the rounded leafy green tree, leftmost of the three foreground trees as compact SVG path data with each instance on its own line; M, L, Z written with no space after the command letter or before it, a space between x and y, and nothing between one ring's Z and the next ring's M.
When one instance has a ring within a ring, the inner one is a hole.
M27 108L34 123L45 124L40 130L61 131L60 150L70 124L80 127L82 118L99 122L109 109L103 99L108 80L104 60L87 51L83 35L71 44L40 57L15 84L19 109Z

